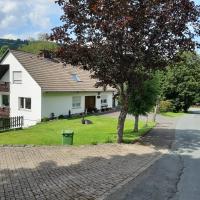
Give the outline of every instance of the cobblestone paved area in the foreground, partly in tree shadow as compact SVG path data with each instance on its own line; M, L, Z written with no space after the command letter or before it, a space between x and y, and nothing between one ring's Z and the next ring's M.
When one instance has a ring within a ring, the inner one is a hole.
M139 144L0 147L0 200L101 199L161 154Z

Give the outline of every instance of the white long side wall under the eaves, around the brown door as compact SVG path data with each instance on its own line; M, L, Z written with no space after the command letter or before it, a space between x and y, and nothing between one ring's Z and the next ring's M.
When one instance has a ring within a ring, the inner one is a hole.
M101 92L100 96L107 97L108 107L112 107L112 92ZM72 97L81 96L81 108L72 108ZM98 99L97 92L47 92L42 95L42 117L50 117L51 113L55 116L68 115L69 110L72 114L85 111L85 96L96 96L96 108L101 109L101 99Z

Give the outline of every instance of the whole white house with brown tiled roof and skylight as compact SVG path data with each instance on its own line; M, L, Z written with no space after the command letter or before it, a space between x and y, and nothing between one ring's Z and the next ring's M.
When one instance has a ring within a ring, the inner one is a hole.
M0 116L24 117L24 126L44 117L112 108L112 88L96 88L88 71L53 59L9 50L0 60Z

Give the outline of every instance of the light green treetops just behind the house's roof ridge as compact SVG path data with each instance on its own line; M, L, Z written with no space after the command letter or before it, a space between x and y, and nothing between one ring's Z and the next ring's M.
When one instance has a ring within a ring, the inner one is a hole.
M19 48L21 51L39 54L41 50L55 51L58 48L58 45L54 42L48 41L31 41L26 45L23 45Z

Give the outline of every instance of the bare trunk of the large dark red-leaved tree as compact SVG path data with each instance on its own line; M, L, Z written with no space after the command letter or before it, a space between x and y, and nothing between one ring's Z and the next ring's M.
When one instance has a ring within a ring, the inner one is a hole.
M118 118L118 126L117 126L117 134L118 134L117 142L119 144L123 142L124 123L126 120L126 115L127 115L126 109L121 109L121 112Z

